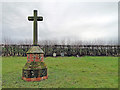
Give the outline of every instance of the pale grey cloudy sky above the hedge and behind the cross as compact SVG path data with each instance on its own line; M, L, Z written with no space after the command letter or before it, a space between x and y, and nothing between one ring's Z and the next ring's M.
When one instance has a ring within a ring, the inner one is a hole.
M14 41L33 38L28 16L38 10L39 40L117 40L117 2L4 2L2 37Z

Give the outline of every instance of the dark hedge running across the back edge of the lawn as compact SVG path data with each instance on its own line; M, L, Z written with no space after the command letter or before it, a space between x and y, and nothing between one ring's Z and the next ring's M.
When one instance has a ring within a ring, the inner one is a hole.
M26 56L32 45L0 45L2 56ZM119 56L119 45L39 45L44 56Z

